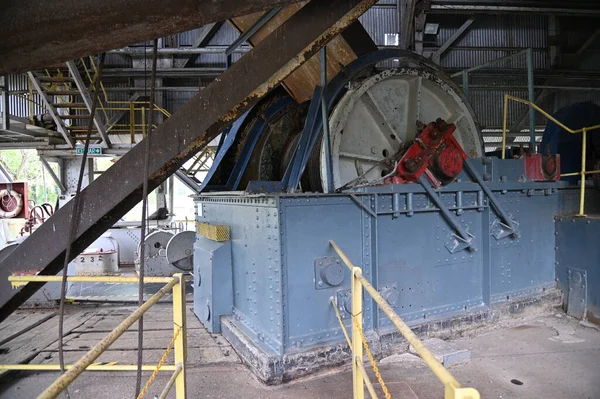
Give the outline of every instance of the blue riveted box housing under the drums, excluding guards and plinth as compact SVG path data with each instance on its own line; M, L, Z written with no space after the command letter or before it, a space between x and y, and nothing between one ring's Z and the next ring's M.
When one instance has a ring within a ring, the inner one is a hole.
M343 194L215 193L196 198L198 222L231 229L233 307L224 316L252 344L284 356L342 343L331 298L349 323L349 272L334 240L409 324L466 314L556 287L554 215L577 209L565 182L528 182L522 160L471 159L518 223L498 234L499 217L463 172L438 190L473 236L473 249L449 251L453 228L418 184ZM541 216L540 216L541 215ZM496 236L499 238L497 239ZM196 253L195 262L203 262ZM218 265L214 265L218 267ZM195 295L204 295L203 285ZM213 290L213 302L226 291ZM393 331L365 298L364 328ZM349 324L348 324L349 325Z

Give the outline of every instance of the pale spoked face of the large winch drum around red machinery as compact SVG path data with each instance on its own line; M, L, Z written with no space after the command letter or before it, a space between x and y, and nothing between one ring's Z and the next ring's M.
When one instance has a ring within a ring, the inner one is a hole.
M438 118L456 125L454 137L469 157L483 154L471 107L439 73L402 67L351 82L329 119L333 188L382 180L393 172L394 157L415 139L418 124ZM328 187L324 149L320 172L323 187Z

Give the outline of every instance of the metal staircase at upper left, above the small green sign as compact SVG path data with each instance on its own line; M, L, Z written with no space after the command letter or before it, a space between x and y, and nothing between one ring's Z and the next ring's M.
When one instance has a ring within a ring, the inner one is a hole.
M92 118L92 97L78 64L69 61L65 67L44 72L27 72L27 75L65 143L73 148L78 142L85 140ZM91 87L92 82L88 84ZM100 144L104 148L110 147L100 112L96 112L93 123L92 143Z

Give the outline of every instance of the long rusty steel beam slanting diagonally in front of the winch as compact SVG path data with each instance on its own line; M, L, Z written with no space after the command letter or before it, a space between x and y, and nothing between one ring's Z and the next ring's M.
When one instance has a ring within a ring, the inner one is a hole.
M220 131L338 35L376 0L314 1L259 43L220 78L153 131L149 188L156 188ZM81 216L72 254L78 254L133 208L142 194L143 145L135 146L82 191ZM72 202L26 239L0 264L0 321L40 284L12 291L11 270L62 268Z

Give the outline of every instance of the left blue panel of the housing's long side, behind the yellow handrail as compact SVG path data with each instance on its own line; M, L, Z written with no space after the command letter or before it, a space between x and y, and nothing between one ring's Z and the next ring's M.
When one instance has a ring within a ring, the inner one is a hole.
M344 266L344 281L335 287L315 289L313 261L337 256L334 240L356 265L364 265L363 217L348 196L281 199L283 223L285 345L298 350L343 338L330 297L350 288L350 271ZM365 277L370 270L363 266ZM370 328L370 309L365 309L364 328Z

